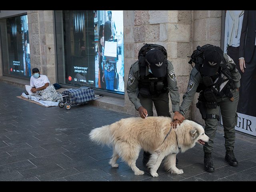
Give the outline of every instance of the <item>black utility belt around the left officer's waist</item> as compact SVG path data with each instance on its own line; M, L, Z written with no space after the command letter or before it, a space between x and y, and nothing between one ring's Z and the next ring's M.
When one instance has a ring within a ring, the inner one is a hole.
M153 95L160 95L162 93L168 92L168 87L164 84L164 82L150 82L148 86L138 86L139 93L142 97L150 98Z

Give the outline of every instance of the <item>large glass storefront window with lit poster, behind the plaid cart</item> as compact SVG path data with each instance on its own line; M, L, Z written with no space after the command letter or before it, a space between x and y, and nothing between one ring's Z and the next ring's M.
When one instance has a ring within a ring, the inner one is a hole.
M58 83L124 94L123 11L64 10L54 16Z

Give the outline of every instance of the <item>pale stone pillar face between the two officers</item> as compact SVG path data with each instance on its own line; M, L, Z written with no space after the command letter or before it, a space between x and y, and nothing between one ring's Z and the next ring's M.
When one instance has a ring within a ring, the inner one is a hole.
M181 104L183 101L182 96L187 89L190 71L192 70L191 65L188 64L188 56L191 55L192 45L192 11L172 11L171 17L172 20L168 23L167 28L168 60L174 66ZM191 115L190 108L185 115L188 119L190 119Z

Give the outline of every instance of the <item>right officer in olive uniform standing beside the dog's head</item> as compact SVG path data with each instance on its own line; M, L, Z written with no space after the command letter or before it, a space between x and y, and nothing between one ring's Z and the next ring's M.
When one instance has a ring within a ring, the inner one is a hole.
M235 126L237 123L237 105L239 100L240 73L236 64L218 46L210 46L204 51L201 64L195 64L190 72L187 91L183 96L180 113L186 114L194 94L200 92L198 103L202 118L205 120L205 134L210 137L204 149L204 168L214 172L211 152L218 126L219 108L224 127L226 156L225 160L232 166L238 162L234 156Z

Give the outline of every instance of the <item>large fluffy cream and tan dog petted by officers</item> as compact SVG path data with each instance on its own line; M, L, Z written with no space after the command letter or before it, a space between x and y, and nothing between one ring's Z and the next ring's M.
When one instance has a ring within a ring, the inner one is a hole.
M121 157L135 175L144 174L136 167L136 160L143 149L152 154L147 166L153 177L158 176L156 171L164 157L164 166L168 172L182 174L183 170L176 168L176 154L194 147L196 142L208 142L209 137L204 134L204 128L196 122L184 120L176 129L171 128L170 122L172 118L162 116L146 119L126 118L95 128L89 136L97 144L112 144L112 167L118 167L116 160Z

